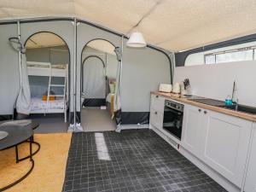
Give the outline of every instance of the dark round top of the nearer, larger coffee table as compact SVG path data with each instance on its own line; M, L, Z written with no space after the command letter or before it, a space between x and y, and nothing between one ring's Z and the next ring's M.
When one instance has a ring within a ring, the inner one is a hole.
M23 143L33 135L32 127L20 125L3 125L0 126L0 131L7 131L9 133L8 137L0 140L0 150Z

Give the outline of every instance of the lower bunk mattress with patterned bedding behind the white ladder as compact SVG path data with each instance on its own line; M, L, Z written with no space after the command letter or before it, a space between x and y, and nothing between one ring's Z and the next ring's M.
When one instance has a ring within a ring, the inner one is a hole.
M63 109L64 101L62 99L56 99L49 101L48 110L50 109ZM41 97L32 97L31 100L31 112L42 111L46 109L47 102L43 101Z

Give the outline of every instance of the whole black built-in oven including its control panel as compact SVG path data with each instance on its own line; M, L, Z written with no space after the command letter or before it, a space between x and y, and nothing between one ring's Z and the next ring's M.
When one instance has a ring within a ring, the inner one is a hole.
M163 128L181 140L183 130L183 104L165 101Z

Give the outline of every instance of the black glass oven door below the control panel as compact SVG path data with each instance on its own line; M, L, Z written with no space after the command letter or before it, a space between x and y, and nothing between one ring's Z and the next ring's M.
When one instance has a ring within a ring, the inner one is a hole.
M181 140L183 126L183 112L165 106L163 128Z

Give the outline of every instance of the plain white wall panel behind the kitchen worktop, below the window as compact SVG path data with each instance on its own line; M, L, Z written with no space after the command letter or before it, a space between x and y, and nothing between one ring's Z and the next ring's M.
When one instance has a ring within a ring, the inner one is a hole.
M236 80L236 98L241 104L256 107L256 61L237 61L193 67L176 67L174 81L190 80L195 96L206 96L224 101L232 94Z

